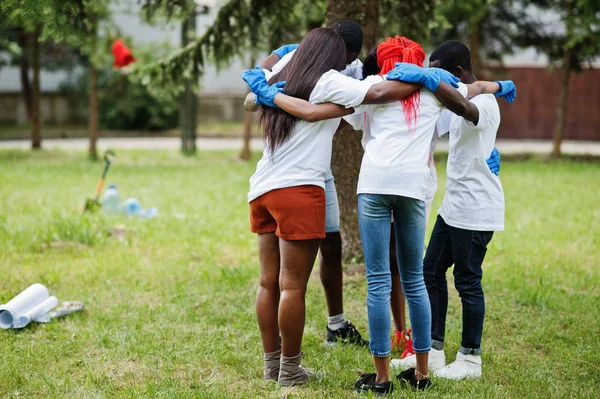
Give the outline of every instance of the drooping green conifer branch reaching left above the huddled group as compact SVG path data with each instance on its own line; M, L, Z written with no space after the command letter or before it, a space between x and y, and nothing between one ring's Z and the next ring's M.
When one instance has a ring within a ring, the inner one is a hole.
M160 10L164 14L171 6L184 7L183 3L147 0L144 7L150 15ZM325 6L310 0L230 0L202 36L160 62L137 63L133 78L161 96L175 98L185 80L196 81L209 62L222 67L247 49L257 52L298 42L308 29L323 22Z

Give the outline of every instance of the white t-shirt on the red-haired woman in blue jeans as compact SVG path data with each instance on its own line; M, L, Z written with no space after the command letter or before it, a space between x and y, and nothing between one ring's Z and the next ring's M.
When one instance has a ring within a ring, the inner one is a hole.
M376 84L383 80L382 76L369 76L365 82ZM466 97L466 86L461 84L459 91ZM366 137L357 193L425 201L430 187L432 138L443 109L435 95L423 89L414 131L409 130L400 101L361 106L355 114L345 117L355 129L363 129Z

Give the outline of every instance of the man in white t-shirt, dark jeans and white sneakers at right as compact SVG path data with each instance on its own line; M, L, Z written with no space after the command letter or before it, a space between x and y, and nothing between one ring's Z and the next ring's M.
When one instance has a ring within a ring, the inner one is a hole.
M440 45L429 59L460 77L464 83L476 80L468 47L456 40ZM511 88L507 82L503 91ZM507 99L514 100L516 89ZM439 210L424 260L425 283L432 311L430 368L435 375L450 379L481 376L481 337L485 301L481 286L482 264L494 231L504 230L502 184L486 160L494 151L500 125L500 110L492 95L471 100L477 108L475 120L452 115L446 194ZM445 366L444 338L448 287L446 272L454 265L454 285L462 302L462 341L456 361ZM412 366L408 357L400 366Z

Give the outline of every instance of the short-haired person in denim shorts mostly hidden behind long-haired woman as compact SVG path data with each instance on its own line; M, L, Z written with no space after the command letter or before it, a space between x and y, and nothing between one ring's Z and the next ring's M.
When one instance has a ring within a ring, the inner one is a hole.
M334 23L331 29L341 36L346 47L346 67L340 73L362 80L362 62L358 59L363 42L360 26L354 21L343 20ZM297 44L283 45L259 63L265 70L267 79L281 72L296 53L296 48L298 48ZM253 107L254 94L250 94L247 98L248 108L256 108ZM326 235L319 245L319 275L325 291L328 311L326 343L366 346L369 345L369 341L363 339L356 327L344 316L340 207L331 169L325 177L325 201Z

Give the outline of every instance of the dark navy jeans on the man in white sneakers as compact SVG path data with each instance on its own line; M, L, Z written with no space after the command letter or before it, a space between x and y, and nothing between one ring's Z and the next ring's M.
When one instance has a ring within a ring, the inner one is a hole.
M425 254L424 271L431 302L433 347L444 345L448 284L446 272L454 264L454 285L462 302L460 352L481 354L485 300L481 287L481 265L492 239L492 231L472 231L448 226L438 215Z

